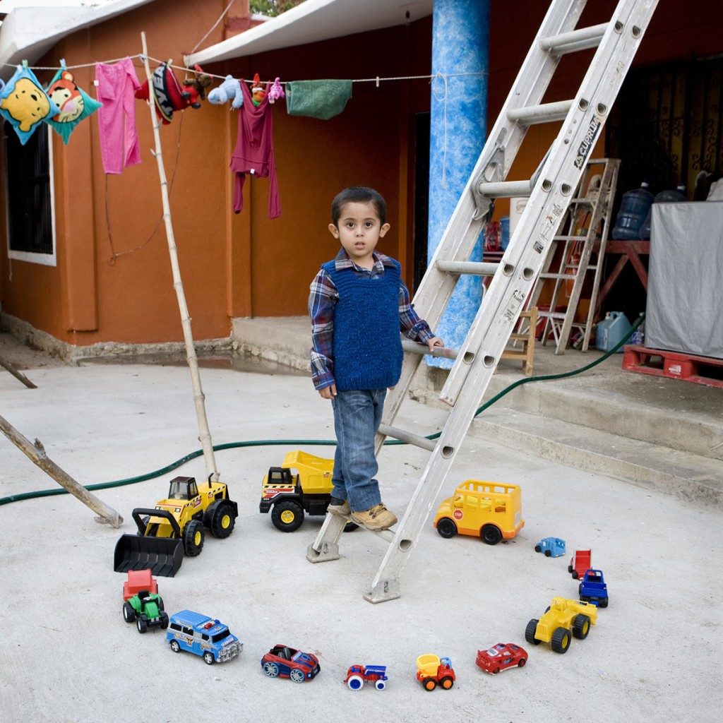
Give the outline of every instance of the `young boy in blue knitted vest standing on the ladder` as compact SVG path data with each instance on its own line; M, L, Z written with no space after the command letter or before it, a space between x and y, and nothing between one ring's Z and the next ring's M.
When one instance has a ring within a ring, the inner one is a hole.
M419 318L401 280L398 261L375 249L389 231L387 204L374 189L343 190L331 206L329 231L341 242L335 260L312 281L312 378L334 409L331 513L369 530L385 530L397 518L382 503L374 438L387 388L399 381L400 329L408 338L443 346Z

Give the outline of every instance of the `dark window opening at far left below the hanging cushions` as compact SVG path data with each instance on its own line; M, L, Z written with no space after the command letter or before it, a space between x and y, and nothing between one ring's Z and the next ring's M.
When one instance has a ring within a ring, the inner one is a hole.
M40 127L21 145L5 124L9 249L53 253L48 127Z

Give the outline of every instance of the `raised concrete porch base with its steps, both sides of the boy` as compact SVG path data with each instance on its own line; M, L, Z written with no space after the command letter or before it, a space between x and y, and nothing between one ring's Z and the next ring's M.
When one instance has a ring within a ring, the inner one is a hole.
M306 317L236 319L233 338L239 351L308 369ZM572 350L557 356L539 345L534 375L569 372L599 356ZM580 375L523 384L477 417L470 434L698 504L722 505L723 390L625 372L621 362L614 355ZM447 374L423 365L411 397L448 412L438 399ZM485 399L522 378L520 364L501 361Z

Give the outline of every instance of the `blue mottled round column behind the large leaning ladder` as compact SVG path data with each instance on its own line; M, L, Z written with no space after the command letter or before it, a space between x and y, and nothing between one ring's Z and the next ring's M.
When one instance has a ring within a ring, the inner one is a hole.
M429 140L429 228L432 259L484 146L487 131L489 0L435 0L432 15L432 100ZM482 236L471 261L482 260ZM437 335L461 346L482 301L482 279L463 276ZM425 357L450 368L450 359Z

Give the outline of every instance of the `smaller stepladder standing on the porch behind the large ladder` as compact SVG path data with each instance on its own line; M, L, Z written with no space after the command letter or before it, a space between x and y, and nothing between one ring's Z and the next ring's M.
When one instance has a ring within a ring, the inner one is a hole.
M581 351L588 350L619 170L619 158L593 158L586 163L578 189L573 194L557 235L552 237L547 260L537 276L532 294L525 305L526 309L536 306L537 317L543 320L543 346L547 343L549 332L552 331L557 344L555 354L565 354L573 329L578 329L583 334ZM561 251L558 258L559 265L556 271L550 271L557 249ZM585 322L576 322L575 316L580 304L583 283L586 278L590 278L590 275L592 277L590 306ZM549 310L546 311L540 309L538 301L542 287L548 279L555 283L552 286ZM560 294L570 283L572 288L568 293L567 309L558 312L556 309Z

